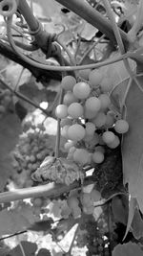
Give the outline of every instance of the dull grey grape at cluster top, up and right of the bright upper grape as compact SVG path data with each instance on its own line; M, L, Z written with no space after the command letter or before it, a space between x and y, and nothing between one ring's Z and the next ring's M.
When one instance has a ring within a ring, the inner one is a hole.
M100 70L97 70L97 69L93 69L89 75L89 81L93 87L98 86L102 81L102 79L103 79L103 74Z

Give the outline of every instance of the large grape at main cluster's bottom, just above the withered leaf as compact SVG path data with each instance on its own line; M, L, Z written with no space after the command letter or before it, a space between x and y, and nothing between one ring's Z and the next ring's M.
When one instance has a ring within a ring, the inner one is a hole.
M81 165L85 165L89 161L89 152L84 149L77 149L73 153L73 160Z

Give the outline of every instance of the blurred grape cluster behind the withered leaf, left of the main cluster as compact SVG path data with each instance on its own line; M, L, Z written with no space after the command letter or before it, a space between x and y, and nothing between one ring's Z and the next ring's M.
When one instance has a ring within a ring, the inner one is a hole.
M33 185L31 174L53 152L51 136L44 131L43 125L34 126L31 122L24 125L24 131L12 153L14 172L11 178L19 187Z

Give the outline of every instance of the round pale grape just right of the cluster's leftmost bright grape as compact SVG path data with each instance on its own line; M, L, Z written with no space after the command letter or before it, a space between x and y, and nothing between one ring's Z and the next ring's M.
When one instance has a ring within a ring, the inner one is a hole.
M84 112L83 106L78 103L73 103L68 107L68 113L72 118L82 117Z

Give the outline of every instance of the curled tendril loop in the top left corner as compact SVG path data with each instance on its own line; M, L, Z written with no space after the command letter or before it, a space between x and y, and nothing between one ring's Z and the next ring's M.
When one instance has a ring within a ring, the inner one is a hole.
M0 2L0 14L4 17L10 17L12 16L18 6L19 0L2 0Z

